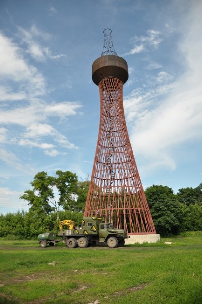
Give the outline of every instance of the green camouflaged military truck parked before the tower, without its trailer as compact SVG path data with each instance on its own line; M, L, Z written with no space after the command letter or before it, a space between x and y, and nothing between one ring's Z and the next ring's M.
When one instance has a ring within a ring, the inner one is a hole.
M105 223L102 217L84 217L80 227L60 230L58 236L69 248L93 246L96 241L106 243L108 247L124 246L126 230L113 228L111 223Z

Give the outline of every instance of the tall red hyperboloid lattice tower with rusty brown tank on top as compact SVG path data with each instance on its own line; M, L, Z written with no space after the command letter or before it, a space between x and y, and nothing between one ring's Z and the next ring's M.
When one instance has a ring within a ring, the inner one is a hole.
M114 51L110 29L104 30L92 79L100 92L100 126L84 216L103 216L129 235L156 234L124 116L128 66Z

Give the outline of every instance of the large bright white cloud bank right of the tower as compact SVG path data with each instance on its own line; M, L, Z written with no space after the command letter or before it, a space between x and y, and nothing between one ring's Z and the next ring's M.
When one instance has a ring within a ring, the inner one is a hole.
M199 8L193 6L187 18L189 22L182 27L178 51L187 63L184 73L173 82L171 75L161 71L153 80L155 89L142 87L125 98L126 116L134 122L131 143L135 154L144 158L147 171L175 169L173 148L202 137L199 12Z

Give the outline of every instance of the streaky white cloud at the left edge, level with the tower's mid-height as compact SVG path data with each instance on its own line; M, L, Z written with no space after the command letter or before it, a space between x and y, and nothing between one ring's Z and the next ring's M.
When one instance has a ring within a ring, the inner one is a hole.
M43 140L44 137L47 137L49 139L52 138L52 140L59 143L62 147L75 149L77 147L73 143L69 142L64 135L60 134L46 121L53 116L64 119L64 117L75 115L76 110L80 107L79 104L73 102L65 102L64 104L52 103L51 105L47 105L42 100L33 99L26 107L22 106L0 112L0 123L24 127L24 131L19 131L18 137L16 137L15 134L15 138L10 140L15 144L18 142L19 137L20 145L26 144L30 145L30 147L34 145L31 141L37 140L35 146L43 149L41 140ZM27 141L27 139L31 141Z

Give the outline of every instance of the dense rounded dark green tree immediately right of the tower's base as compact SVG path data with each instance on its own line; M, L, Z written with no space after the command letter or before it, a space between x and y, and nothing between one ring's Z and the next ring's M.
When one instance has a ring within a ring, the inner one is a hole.
M162 236L177 234L180 227L180 205L173 190L167 186L153 185L145 195L157 233Z

